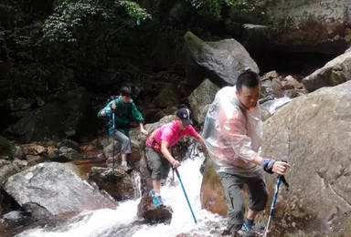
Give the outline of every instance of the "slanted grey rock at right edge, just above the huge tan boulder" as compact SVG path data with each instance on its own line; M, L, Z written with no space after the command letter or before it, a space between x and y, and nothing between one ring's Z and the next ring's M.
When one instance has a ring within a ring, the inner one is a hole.
M335 57L313 74L303 78L303 86L309 92L318 88L332 87L351 78L351 51Z

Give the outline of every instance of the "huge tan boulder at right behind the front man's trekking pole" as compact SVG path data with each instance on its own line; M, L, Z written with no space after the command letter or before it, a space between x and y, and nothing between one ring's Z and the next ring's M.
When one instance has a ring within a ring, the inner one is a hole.
M262 153L292 165L273 235L348 236L351 229L351 81L321 88L264 122ZM276 175L267 176L273 191ZM279 234L277 234L279 233ZM312 234L316 235L312 235Z

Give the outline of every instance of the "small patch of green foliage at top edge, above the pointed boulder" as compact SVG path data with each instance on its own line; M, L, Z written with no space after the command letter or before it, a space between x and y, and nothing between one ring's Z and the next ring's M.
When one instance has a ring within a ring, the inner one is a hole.
M186 2L197 10L198 15L214 22L222 19L223 7L235 6L243 12L253 9L246 0L186 0Z

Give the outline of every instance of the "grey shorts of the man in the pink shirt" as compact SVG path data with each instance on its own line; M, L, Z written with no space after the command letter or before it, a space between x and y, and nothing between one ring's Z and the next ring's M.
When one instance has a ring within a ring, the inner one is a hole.
M171 169L171 163L160 152L146 146L146 165L151 170L152 180L165 180Z

